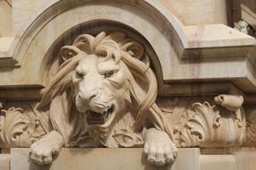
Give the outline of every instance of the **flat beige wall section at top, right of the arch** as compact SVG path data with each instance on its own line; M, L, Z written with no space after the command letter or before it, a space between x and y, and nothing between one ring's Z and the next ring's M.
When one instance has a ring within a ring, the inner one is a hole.
M229 24L229 2L224 0L158 0L184 25Z

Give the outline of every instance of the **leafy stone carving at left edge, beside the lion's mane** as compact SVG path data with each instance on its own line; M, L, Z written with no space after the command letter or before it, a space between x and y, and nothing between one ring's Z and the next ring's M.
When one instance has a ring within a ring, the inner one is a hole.
M1 107L3 107L2 104ZM49 123L37 111L24 111L21 107L1 109L1 148L30 147L47 132L49 132Z

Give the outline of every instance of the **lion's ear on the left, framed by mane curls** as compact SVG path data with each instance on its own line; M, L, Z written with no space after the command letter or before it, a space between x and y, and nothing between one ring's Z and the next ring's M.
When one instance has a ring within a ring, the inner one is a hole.
M80 52L82 51L75 46L65 46L60 49L60 54L64 62L75 55L78 55Z

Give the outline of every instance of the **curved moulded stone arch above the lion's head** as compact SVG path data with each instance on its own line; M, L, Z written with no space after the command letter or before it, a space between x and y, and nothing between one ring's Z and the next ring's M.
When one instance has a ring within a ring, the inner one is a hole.
M98 10L95 10L98 9ZM13 72L23 72L22 84L43 85L42 70L50 47L64 32L90 21L112 21L136 30L153 48L157 60L160 84L172 77L172 58L178 58L182 47L186 47L185 33L180 22L154 1L75 1L51 0L31 17L15 38L9 55L13 56ZM155 60L156 61L156 60ZM42 67L40 67L42 65ZM33 68L27 70L26 68ZM167 72L169 71L169 72ZM27 79L28 78L28 79Z

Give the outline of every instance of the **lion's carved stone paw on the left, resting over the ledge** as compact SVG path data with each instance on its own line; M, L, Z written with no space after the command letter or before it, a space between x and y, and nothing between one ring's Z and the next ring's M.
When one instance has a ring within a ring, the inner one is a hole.
M31 159L39 165L50 164L64 144L58 132L49 132L31 145Z

